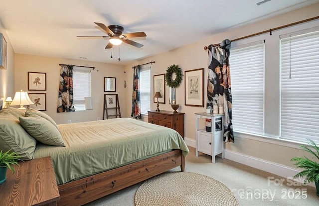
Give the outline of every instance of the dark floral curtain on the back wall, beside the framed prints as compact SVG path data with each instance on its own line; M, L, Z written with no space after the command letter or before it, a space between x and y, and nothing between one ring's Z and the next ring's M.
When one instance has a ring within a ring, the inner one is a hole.
M62 64L60 69L59 98L57 112L74 112L73 65Z

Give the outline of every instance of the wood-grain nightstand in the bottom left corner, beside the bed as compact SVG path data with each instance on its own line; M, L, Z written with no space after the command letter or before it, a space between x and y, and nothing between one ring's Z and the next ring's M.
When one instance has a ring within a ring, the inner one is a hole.
M19 162L0 185L0 206L56 206L60 194L50 157Z

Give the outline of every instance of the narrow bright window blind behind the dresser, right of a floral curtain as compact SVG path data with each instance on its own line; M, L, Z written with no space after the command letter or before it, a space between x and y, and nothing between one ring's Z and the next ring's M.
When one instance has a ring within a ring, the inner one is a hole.
M145 66L140 70L141 114L148 115L151 109L151 67Z

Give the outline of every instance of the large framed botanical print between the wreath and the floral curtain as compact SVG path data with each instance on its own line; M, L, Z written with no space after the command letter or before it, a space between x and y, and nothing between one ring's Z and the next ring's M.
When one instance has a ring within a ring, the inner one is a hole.
M185 105L204 107L204 68L185 71Z

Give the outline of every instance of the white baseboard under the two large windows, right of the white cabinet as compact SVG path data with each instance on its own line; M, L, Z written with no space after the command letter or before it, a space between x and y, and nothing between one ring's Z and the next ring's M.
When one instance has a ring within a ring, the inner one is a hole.
M269 173L273 173L284 178L292 178L294 177L294 175L300 172L300 170L297 170L296 168L255 158L242 153L237 153L230 150L224 150L224 152L225 159L232 160ZM314 183L309 184L309 186L316 187Z

